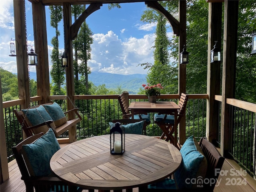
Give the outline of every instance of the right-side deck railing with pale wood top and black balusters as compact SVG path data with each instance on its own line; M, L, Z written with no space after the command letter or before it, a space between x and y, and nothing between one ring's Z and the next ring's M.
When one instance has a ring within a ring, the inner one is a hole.
M219 102L219 143L221 126L221 102L222 96L216 95L215 100ZM229 154L236 160L251 176L256 175L256 104L237 99L228 98L226 103L230 105L230 127Z

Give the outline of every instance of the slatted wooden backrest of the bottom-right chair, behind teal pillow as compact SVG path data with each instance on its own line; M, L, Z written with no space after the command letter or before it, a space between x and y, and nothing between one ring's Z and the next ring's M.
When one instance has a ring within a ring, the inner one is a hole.
M208 184L207 182L204 183L204 189L213 191L225 158L221 156L220 152L218 152L212 143L204 138L201 138L199 146L207 159L207 171L205 178L210 180Z

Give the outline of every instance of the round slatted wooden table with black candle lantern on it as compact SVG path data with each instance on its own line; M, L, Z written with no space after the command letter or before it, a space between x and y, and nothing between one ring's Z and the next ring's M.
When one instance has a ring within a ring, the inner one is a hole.
M122 155L110 154L110 135L86 138L58 150L52 171L64 182L85 189L122 190L162 180L180 166L180 151L158 138L125 134Z

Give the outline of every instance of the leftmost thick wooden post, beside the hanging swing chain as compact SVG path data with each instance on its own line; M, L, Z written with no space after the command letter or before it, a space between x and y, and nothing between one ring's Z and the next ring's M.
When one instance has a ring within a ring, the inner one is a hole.
M21 105L21 108L25 109L28 108L30 104L30 90L28 80L28 52L25 24L25 1L14 0L13 9L19 98L24 99L24 104Z

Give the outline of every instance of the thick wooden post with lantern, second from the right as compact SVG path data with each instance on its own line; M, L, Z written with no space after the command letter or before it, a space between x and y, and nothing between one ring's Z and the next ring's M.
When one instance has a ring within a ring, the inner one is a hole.
M215 95L220 94L220 62L210 63L210 51L215 41L218 48L221 47L222 32L222 2L209 3L208 16L208 60L207 60L207 94L206 103L206 137L216 144L218 138L218 102Z

